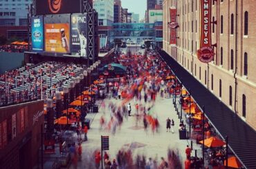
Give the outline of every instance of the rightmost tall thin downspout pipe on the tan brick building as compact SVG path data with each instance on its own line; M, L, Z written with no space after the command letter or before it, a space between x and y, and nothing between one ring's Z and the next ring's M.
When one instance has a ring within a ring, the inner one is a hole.
M238 43L238 32L237 32L237 14L238 14L238 0L235 1L235 114L237 115L237 43Z

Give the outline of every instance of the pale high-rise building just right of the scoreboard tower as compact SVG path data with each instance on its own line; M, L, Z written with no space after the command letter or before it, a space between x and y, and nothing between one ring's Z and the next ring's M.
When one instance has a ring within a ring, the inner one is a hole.
M113 0L94 0L93 8L98 12L99 26L110 26L113 23Z

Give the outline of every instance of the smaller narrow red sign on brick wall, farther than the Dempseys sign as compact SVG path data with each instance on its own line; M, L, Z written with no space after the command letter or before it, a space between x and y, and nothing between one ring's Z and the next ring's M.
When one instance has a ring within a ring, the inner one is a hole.
M176 22L176 8L170 8L170 22L168 23L168 28L170 28L170 45L176 46L176 28L179 24Z

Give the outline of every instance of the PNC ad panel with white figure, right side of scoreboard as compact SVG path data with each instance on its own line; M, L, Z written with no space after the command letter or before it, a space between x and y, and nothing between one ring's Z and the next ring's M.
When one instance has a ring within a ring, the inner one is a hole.
M87 21L86 14L72 14L71 17L71 53L77 57L87 57Z

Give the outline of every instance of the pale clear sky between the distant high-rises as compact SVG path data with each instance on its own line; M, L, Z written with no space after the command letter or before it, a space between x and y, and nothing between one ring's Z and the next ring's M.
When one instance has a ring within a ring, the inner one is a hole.
M121 0L122 8L128 8L128 12L140 14L140 19L145 18L145 10L147 9L147 0Z

